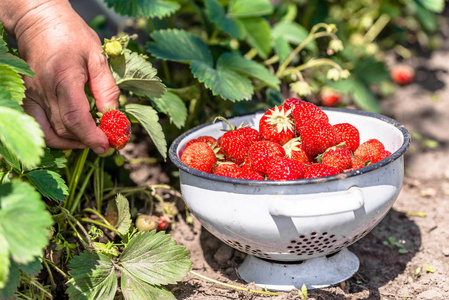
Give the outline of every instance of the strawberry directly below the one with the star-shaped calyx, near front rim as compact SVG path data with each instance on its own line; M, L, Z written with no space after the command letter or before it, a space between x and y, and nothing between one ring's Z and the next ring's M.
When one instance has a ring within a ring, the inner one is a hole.
M285 156L285 150L278 143L259 141L249 148L248 156L253 170L265 175L268 160L273 157Z

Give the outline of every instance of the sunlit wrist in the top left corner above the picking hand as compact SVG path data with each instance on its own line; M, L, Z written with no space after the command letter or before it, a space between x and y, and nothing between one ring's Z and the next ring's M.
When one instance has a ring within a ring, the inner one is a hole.
M15 38L71 10L68 0L0 0L0 21ZM56 15L55 15L56 14Z

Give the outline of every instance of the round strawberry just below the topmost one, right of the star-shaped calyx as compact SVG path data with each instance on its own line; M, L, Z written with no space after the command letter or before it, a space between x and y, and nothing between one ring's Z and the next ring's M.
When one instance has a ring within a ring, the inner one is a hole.
M337 134L334 127L326 121L311 119L301 130L301 142L310 156L323 153L327 148L337 144Z

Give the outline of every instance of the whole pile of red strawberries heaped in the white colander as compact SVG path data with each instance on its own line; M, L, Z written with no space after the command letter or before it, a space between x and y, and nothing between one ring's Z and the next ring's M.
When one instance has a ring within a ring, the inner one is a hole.
M359 169L390 155L378 139L360 144L354 125L332 125L318 106L296 98L266 111L259 130L227 123L230 130L218 139L200 136L190 140L181 161L220 176L295 180Z

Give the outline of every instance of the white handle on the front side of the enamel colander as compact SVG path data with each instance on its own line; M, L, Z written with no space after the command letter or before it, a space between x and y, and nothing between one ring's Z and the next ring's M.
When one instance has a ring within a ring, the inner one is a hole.
M311 217L354 211L365 205L362 190L353 186L346 191L296 195L282 195L269 205L269 213L278 217ZM295 199L296 198L296 199Z

